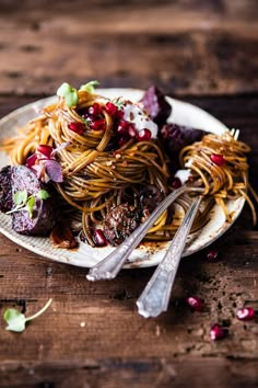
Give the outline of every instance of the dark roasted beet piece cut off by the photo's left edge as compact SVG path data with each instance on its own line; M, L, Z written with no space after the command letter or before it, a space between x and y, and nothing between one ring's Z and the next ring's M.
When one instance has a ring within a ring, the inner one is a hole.
M12 208L11 166L0 171L0 212L7 213Z

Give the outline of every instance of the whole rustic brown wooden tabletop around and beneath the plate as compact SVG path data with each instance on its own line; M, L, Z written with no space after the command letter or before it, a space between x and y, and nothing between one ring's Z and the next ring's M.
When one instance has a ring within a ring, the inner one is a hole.
M215 115L253 147L250 181L258 190L258 9L239 1L1 1L0 116L79 87L145 89ZM0 387L256 387L258 233L248 207L212 249L183 260L169 310L145 320L136 299L153 269L124 271L90 283L86 270L61 265L0 236ZM185 305L206 300L202 312ZM4 330L8 307L51 307L21 333ZM210 326L227 327L212 342Z

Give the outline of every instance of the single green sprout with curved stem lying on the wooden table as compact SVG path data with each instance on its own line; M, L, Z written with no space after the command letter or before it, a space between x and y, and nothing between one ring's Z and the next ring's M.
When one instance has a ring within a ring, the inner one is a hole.
M8 323L5 329L21 333L25 330L26 322L39 317L50 306L51 301L52 299L50 298L39 311L27 318L15 308L7 309L3 313L3 319Z

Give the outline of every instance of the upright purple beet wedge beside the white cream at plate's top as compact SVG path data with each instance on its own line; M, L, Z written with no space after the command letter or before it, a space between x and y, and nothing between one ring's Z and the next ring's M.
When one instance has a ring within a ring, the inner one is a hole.
M166 123L167 117L172 113L172 106L156 87L151 87L145 91L141 103L153 122L160 127Z

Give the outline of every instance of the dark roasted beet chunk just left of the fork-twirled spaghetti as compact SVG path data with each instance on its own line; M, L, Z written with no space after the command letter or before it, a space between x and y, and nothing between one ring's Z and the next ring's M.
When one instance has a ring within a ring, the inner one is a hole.
M204 134L200 129L169 123L162 127L160 138L167 153L171 156L179 152L184 147L201 140Z

